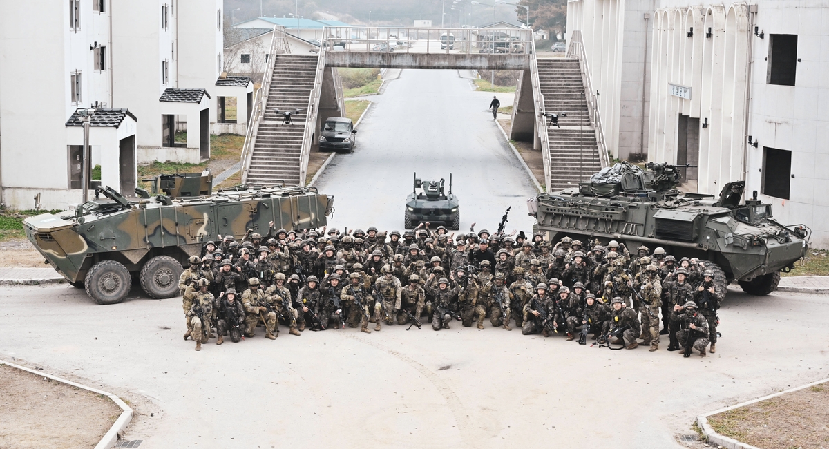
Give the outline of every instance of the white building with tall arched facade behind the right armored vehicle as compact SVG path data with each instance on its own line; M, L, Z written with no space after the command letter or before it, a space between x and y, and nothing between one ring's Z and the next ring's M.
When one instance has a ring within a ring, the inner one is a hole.
M745 180L745 196L829 247L829 0L577 0L574 31L614 156L633 154L633 128L648 160L699 165L689 190Z

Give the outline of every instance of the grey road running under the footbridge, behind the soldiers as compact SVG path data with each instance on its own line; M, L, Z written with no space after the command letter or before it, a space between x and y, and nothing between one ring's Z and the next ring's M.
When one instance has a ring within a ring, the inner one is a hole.
M403 70L384 94L372 96L355 152L337 155L316 184L335 196L329 224L402 232L413 173L445 178L447 186L452 173L461 230L477 223L476 231L494 232L512 206L507 230L531 231L526 200L536 191L486 111L492 94L469 85L458 70Z

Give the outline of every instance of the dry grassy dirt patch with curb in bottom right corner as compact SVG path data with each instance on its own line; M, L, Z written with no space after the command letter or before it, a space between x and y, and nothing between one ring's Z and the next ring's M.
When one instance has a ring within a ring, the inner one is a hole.
M829 383L708 418L721 435L761 448L829 447Z

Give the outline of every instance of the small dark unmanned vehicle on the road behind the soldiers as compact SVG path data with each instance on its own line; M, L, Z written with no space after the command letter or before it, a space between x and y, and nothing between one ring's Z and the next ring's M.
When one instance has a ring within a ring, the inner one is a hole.
M442 222L449 229L460 229L461 213L458 197L452 195L452 173L449 173L449 193L444 193L444 179L422 181L414 173L412 193L406 197L403 219L405 229L414 229L420 222Z

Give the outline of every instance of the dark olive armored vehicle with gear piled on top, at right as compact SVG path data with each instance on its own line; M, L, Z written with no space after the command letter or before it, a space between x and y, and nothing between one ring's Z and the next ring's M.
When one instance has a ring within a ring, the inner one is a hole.
M756 191L740 203L744 181L725 184L719 197L681 193L676 186L683 168L616 164L578 187L530 200L530 215L550 241L570 236L603 244L616 239L628 248L661 246L677 259L715 262L715 271L722 271L715 277L736 280L745 292L773 292L779 272L791 270L806 253L811 229L773 220L772 206L757 200Z

